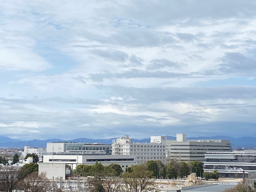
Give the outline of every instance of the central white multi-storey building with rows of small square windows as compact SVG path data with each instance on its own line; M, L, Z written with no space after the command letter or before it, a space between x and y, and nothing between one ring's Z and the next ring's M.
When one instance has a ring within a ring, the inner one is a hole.
M125 135L112 141L112 155L134 155L136 164L150 160L165 163L165 142L166 136L151 136L150 143L135 143Z

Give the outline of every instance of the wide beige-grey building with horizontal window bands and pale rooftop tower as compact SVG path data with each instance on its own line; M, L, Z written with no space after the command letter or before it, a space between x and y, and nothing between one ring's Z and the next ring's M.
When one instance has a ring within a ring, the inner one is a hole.
M187 140L186 134L176 134L176 140L166 140L166 162L204 161L206 152L230 152L230 140L205 139Z

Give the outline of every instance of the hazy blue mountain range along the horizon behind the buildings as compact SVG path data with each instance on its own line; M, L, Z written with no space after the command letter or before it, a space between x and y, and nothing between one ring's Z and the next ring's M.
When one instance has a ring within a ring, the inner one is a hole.
M111 144L112 140L116 138L110 139L88 139L88 138L79 138L70 140L68 142L81 142L81 143L102 143L102 144ZM167 139L174 140L176 137L167 136ZM206 139L206 137L187 137L187 139L195 139L202 140ZM207 139L224 139L230 140L233 148L256 148L256 137L228 137L228 136L213 136L207 137ZM133 139L133 142L150 142L150 138L145 139ZM46 143L48 142L67 142L61 139L46 139L46 140L38 140L34 139L32 141L20 141L18 139L11 139L9 137L0 136L0 147L18 147L24 148L24 146L35 146L35 147L46 147Z

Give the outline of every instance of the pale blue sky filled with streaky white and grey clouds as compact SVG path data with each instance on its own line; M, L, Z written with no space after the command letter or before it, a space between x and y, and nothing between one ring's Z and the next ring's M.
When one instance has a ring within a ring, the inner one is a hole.
M0 135L256 137L255 1L0 1Z

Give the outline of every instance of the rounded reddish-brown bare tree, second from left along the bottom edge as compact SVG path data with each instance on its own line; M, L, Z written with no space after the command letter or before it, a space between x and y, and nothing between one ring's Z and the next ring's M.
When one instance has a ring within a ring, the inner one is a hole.
M20 187L25 192L45 192L49 190L50 185L45 172L39 175L38 172L34 172L20 182Z

